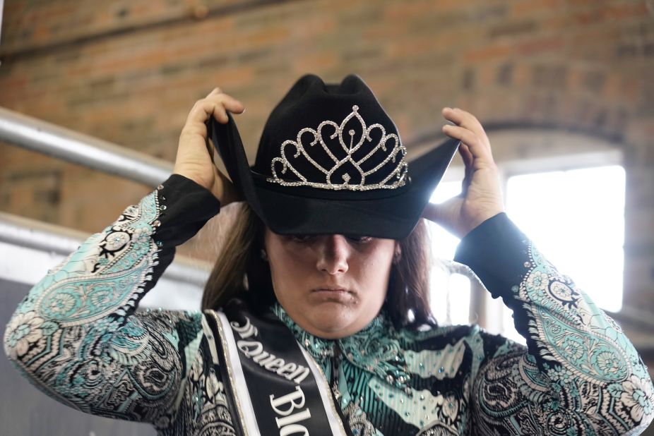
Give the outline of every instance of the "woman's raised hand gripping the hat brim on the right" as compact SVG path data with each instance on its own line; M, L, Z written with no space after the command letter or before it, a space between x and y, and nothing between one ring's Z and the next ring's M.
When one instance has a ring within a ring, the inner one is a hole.
M443 132L461 141L459 154L465 164L462 192L439 205L428 203L422 216L443 226L459 238L482 222L504 211L497 166L481 123L462 109L443 109Z

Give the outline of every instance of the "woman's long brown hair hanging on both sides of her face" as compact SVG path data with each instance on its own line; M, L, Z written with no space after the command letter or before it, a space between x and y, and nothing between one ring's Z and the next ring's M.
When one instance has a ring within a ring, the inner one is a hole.
M265 224L243 203L202 296L202 310L220 308L238 296L258 313L275 301L268 262L261 257ZM429 308L427 226L420 219L400 241L401 255L391 266L384 308L396 327L436 325Z

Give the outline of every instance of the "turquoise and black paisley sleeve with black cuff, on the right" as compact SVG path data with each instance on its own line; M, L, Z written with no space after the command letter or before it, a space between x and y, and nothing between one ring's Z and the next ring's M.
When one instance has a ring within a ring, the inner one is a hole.
M510 341L482 362L472 425L483 435L636 435L654 418L646 366L622 329L498 214L465 236L456 260L513 309Z

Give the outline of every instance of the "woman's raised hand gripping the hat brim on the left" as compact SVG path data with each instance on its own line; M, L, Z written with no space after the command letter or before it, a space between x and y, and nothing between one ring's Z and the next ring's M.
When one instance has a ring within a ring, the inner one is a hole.
M242 114L245 107L234 97L222 92L219 87L196 102L186 118L182 134L179 135L177 158L173 169L175 174L190 178L210 190L215 198L218 198L221 206L239 201L241 197L230 179L218 171L213 164L213 150L211 150L212 155L209 155L206 147L206 121L213 116L219 123L227 123L226 110L234 114Z

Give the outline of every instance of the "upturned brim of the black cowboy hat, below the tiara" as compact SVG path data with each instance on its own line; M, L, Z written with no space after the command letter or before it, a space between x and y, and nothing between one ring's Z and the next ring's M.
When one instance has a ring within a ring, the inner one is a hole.
M353 193L280 186L252 171L232 115L208 121L227 173L254 212L277 234L345 234L402 239L415 228L459 145L445 140L409 162L409 181L394 190Z

